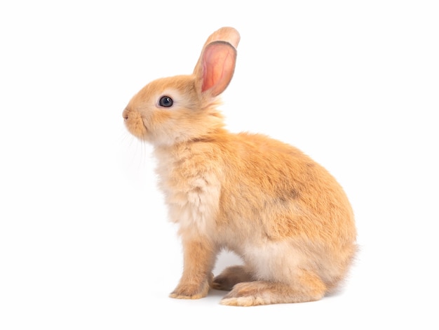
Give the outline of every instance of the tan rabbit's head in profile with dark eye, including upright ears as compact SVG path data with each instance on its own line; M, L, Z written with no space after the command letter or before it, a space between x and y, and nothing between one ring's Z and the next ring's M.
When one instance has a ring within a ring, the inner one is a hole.
M144 86L123 111L128 131L153 145L173 145L222 128L218 96L233 77L238 42L236 29L222 27L206 41L192 74Z

